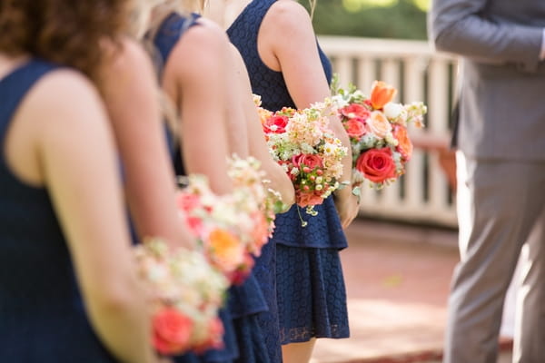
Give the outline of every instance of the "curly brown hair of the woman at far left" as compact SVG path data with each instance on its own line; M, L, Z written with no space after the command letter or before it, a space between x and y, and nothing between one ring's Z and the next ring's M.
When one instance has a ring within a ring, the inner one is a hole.
M30 54L96 80L101 43L118 44L131 0L0 0L0 52Z

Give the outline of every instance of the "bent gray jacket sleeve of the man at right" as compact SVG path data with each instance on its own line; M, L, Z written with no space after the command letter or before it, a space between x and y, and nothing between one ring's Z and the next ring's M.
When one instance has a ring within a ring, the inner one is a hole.
M433 0L428 29L435 47L478 62L517 64L535 71L542 28L495 22L483 15L486 4L487 0Z

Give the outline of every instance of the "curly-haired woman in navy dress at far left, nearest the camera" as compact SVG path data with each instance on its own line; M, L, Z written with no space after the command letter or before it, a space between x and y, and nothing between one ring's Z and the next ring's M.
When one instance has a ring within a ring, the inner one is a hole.
M127 3L0 0L2 362L156 361L95 88Z

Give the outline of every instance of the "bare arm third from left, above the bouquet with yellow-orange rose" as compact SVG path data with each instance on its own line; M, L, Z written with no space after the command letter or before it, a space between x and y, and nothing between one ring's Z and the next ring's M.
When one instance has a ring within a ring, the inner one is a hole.
M216 26L195 25L173 49L164 71L166 92L182 113L180 138L187 172L208 177L213 191L232 191L225 110L226 35Z

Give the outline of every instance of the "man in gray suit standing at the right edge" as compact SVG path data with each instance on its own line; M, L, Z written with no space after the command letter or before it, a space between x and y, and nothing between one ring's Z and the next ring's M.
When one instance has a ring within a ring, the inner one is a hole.
M433 0L430 38L461 55L461 262L444 362L495 363L521 258L513 360L545 362L545 0Z

